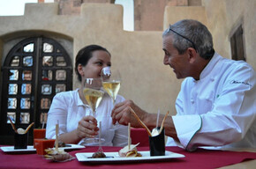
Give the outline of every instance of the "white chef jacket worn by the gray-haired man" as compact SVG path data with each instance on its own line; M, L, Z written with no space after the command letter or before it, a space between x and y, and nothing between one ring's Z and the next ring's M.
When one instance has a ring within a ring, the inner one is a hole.
M200 80L184 79L173 116L180 143L168 137L167 145L256 148L255 84L248 63L215 53Z

